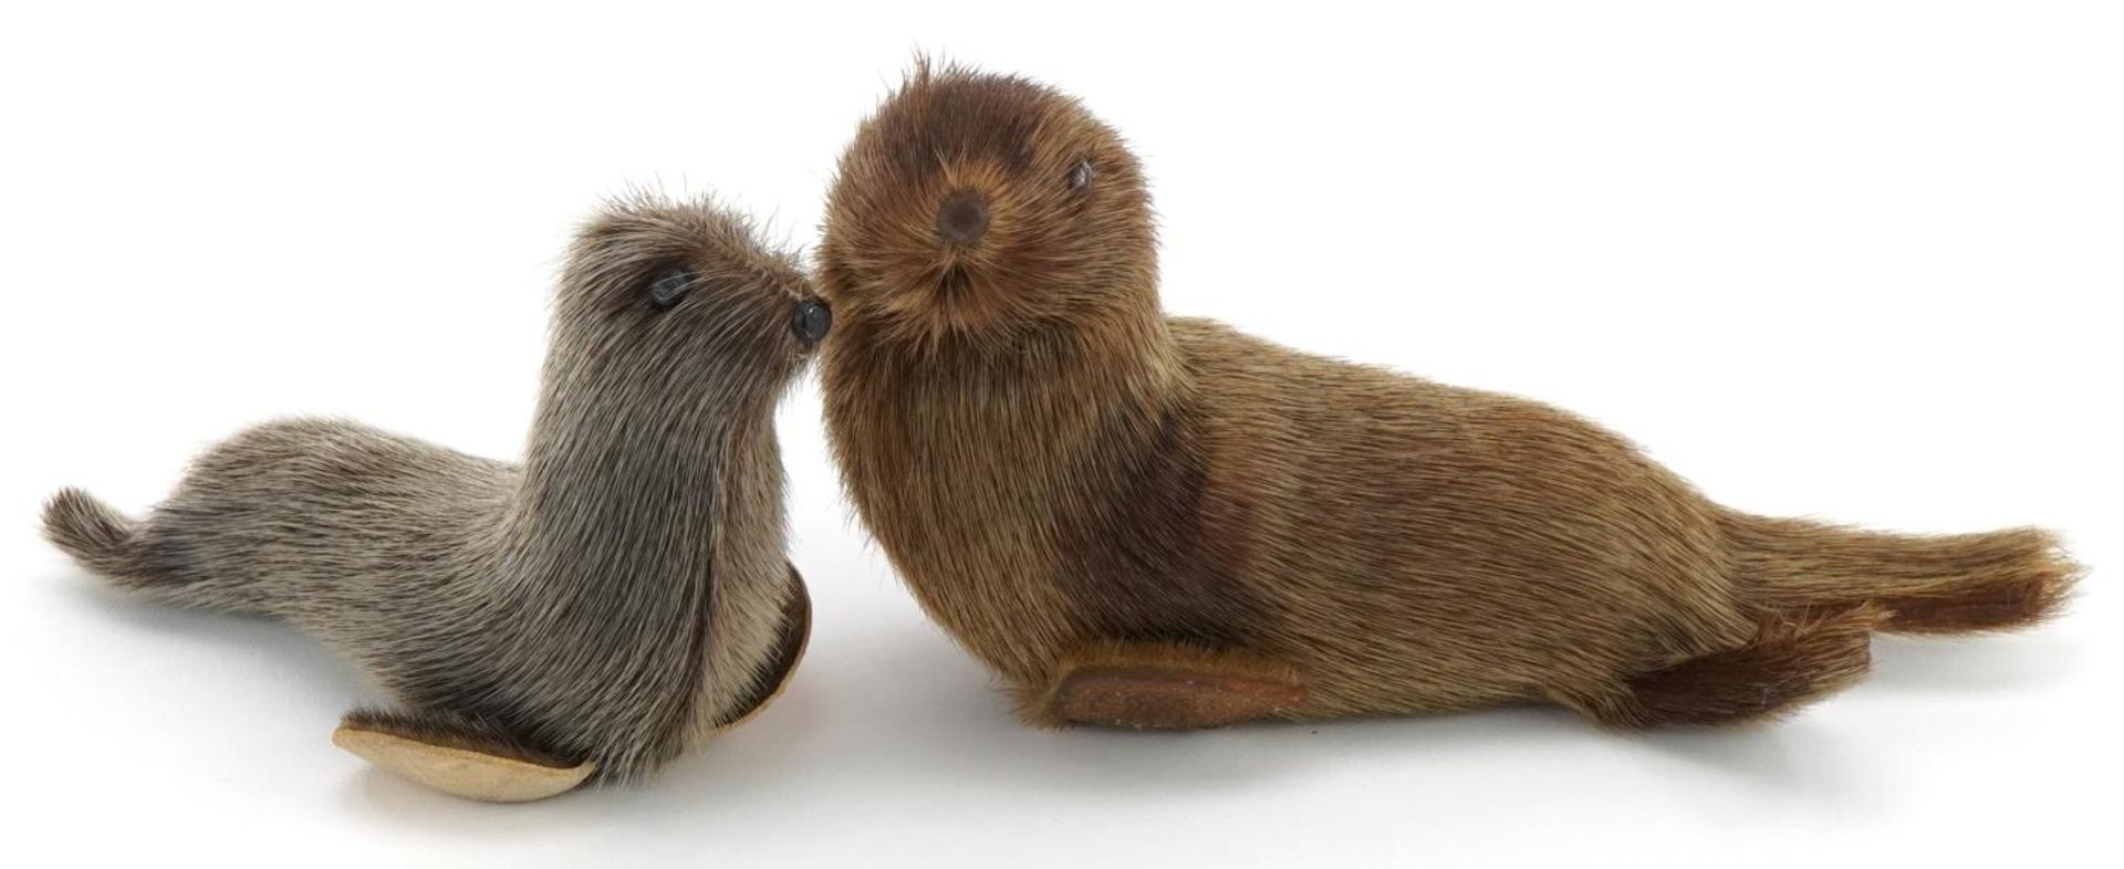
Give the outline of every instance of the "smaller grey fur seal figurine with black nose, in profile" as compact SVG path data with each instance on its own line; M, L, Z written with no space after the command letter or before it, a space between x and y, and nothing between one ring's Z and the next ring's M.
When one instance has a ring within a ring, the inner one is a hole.
M333 742L525 801L648 773L739 722L809 635L773 408L830 317L709 204L614 204L576 238L527 461L282 421L142 521L68 489L47 535L130 593L287 618L399 703Z

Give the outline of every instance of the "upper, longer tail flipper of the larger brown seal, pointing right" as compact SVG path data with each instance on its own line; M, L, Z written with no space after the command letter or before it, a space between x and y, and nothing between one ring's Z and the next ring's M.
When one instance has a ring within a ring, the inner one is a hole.
M2082 574L2041 529L1905 538L1729 514L1725 533L1742 589L1765 608L1871 603L1892 633L2028 627L2054 616Z

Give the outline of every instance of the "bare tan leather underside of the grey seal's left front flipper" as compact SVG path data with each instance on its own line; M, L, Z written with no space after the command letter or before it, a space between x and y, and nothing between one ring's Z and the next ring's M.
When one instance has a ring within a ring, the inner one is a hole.
M429 788L484 803L529 803L554 797L597 771L595 763L567 769L542 767L353 727L331 731L331 744Z

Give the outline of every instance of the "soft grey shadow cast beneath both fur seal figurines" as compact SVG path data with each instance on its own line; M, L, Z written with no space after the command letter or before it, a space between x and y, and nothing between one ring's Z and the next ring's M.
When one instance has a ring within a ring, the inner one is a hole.
M79 584L98 618L198 644L246 648L285 671L259 691L285 691L336 718L346 697L372 697L357 674L306 635L266 618L144 606ZM1969 667L2018 680L2048 646L2005 648L1884 642L1882 682L1967 686ZM1922 646L1922 648L1920 648ZM1948 652L1943 659L1937 652ZM2001 663L2005 661L2005 663ZM299 708L297 708L299 710ZM289 714L304 727L310 714ZM282 725L272 725L282 727ZM986 671L926 623L847 625L820 631L788 693L756 720L699 746L658 776L586 788L529 805L446 797L346 761L338 803L374 822L461 841L548 841L637 831L746 831L796 812L820 788L871 795L971 793L1011 799L1028 790L1102 801L1255 790L1330 773L1349 759L1459 763L1468 756L1563 752L1621 742L1644 763L1680 763L1778 797L1848 793L1829 731L1795 720L1750 729L1599 731L1565 710L1500 708L1423 718L1251 725L1206 733L1104 729L1034 731L1009 712ZM333 748L319 748L333 752ZM1597 752L1595 752L1597 756ZM771 818L769 818L771 820Z

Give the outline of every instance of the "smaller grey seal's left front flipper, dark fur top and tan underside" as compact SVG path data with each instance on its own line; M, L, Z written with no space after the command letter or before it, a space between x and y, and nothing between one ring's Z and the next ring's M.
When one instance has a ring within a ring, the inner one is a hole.
M452 797L529 803L582 784L595 763L569 763L503 733L421 712L348 712L331 744Z

